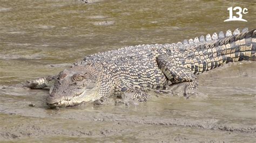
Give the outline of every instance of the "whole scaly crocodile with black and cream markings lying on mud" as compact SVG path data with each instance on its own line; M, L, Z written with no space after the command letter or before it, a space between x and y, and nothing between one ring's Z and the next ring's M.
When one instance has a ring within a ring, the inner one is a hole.
M87 55L58 75L27 81L24 87L49 88L46 104L51 108L95 102L100 98L129 96L147 100L149 90L183 84L196 89L196 75L228 62L256 57L256 30L237 28L233 32L201 35L173 44L127 46Z

